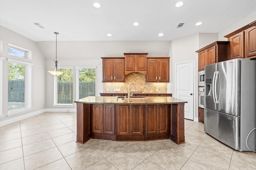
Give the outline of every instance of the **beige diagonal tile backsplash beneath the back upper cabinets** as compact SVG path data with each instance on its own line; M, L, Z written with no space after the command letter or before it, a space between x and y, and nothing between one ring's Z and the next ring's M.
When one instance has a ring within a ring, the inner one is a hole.
M131 82L135 84L136 90L134 90L133 85L130 85L130 91L141 91L144 93L167 92L167 83L146 83L146 75L142 73L130 73L125 76L124 83L103 83L103 93L127 93L128 85ZM114 89L120 89L120 91L114 91Z

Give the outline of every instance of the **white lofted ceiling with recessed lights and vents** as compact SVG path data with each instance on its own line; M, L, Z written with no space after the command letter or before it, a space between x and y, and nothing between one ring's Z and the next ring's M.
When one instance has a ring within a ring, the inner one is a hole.
M179 1L0 0L0 25L34 41L54 41L53 32L59 41L171 41L218 33L256 11L256 0L182 0L176 7Z

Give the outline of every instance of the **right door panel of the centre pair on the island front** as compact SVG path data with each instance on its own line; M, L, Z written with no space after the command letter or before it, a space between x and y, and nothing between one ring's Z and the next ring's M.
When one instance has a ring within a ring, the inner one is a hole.
M143 134L143 109L144 105L131 105L131 135Z

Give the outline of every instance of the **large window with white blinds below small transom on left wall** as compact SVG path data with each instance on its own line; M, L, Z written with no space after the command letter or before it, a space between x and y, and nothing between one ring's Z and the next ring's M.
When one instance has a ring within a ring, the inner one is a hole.
M8 115L31 109L32 64L8 59Z

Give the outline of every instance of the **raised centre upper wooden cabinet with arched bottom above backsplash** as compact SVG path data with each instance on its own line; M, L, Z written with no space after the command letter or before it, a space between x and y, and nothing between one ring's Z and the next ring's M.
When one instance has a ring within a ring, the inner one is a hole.
M148 53L124 53L125 75L138 72L146 75Z

